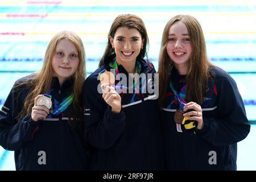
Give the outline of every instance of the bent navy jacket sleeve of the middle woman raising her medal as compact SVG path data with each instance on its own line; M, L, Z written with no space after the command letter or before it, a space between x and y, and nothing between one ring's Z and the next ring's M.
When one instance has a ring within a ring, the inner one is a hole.
M113 113L97 88L100 82L88 77L83 88L85 139L93 147L108 149L121 136L125 127L125 113Z

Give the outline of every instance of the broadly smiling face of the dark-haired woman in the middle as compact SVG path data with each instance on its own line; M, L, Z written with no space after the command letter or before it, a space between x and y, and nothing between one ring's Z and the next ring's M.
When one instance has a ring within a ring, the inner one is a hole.
M135 65L136 58L143 48L141 34L136 28L119 27L114 38L109 36L109 40L114 47L118 64Z

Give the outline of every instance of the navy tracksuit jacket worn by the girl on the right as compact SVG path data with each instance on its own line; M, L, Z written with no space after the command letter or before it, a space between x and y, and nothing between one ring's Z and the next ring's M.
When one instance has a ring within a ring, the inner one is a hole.
M171 74L177 92L185 85L185 76ZM236 170L237 142L246 138L250 124L236 82L220 68L213 67L208 80L203 109L203 130L181 133L174 121L177 102L168 88L163 122L166 169Z

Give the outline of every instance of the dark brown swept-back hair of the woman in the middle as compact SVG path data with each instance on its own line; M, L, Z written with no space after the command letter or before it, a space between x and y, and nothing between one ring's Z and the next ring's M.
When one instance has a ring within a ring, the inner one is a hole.
M145 56L147 56L148 36L147 36L147 30L143 20L139 18L139 16L137 15L122 14L122 15L118 15L117 18L114 19L114 22L110 27L109 34L108 34L108 44L104 51L104 55L100 60L100 64L98 65L99 67L101 67L104 64L104 60L107 57L109 57L110 55L115 55L115 51L112 48L112 45L109 40L109 36L112 36L112 38L114 38L115 32L119 27L127 27L129 29L135 28L139 31L142 37L143 48L141 49L137 57L138 59L143 59Z

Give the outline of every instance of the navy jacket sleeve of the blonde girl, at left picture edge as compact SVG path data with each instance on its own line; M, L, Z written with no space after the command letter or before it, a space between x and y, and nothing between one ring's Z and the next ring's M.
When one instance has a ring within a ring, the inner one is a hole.
M0 110L0 144L6 150L18 150L25 142L31 140L40 122L32 121L31 114L19 122L16 119L22 108L22 93L11 89L5 104Z

